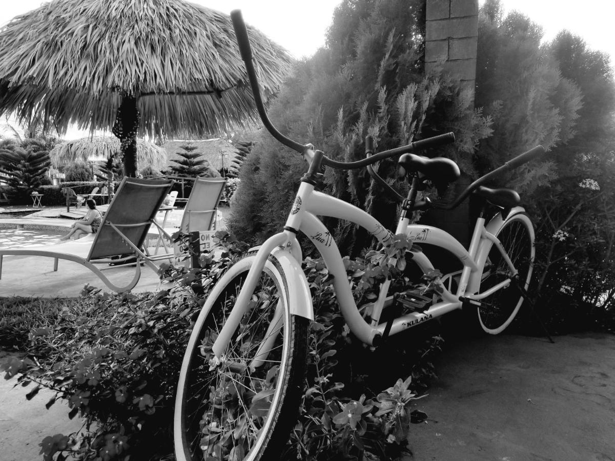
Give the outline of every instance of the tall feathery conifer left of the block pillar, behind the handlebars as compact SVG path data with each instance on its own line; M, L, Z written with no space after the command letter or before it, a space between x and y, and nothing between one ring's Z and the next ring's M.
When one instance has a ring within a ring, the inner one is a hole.
M339 160L362 158L367 134L382 151L448 130L459 136L457 148L448 153L469 156L462 151L472 151L488 134L489 121L474 112L467 92L452 81L424 76L424 25L421 0L341 2L327 45L296 63L271 105L272 121L291 138L313 143ZM381 162L379 168L382 173L394 170L392 162ZM263 135L240 174L232 230L240 238L258 240L279 228L305 170L299 156ZM328 171L326 187L392 227L397 204L380 193L367 171ZM341 247L351 252L370 242L352 226L341 225L336 232Z

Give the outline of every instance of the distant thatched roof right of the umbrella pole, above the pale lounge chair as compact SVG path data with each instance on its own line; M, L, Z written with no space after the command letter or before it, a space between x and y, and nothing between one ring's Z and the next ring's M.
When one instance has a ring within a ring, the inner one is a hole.
M172 165L171 160L178 160L181 158L177 152L186 152L181 148L181 146L186 145L196 147L192 152L201 154L214 170L220 171L222 169L223 157L220 154L224 154L224 167L229 168L232 173L237 174L239 172L241 156L231 143L220 138L201 141L175 140L165 142L161 147L167 151L169 155L169 160L167 161L168 166ZM239 162L237 162L237 160L239 160Z

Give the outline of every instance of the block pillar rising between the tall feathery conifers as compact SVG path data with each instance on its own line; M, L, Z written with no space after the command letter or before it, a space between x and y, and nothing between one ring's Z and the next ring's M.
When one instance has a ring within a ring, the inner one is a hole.
M425 70L443 65L446 73L474 91L478 0L427 0Z

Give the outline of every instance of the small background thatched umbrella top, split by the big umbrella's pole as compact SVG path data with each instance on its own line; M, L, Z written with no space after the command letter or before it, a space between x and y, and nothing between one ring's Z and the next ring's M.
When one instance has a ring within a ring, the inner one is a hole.
M49 151L54 167L85 164L88 160L106 160L120 152L120 141L114 137L93 136L57 144ZM141 168L150 165L155 170L167 166L167 151L149 141L137 140L137 162Z

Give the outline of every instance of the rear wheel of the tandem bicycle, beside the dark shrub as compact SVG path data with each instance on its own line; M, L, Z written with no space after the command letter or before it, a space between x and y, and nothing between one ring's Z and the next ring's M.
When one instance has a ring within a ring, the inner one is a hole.
M518 281L511 282L507 288L496 291L483 299L478 307L478 321L486 333L498 334L510 325L523 304L523 296L517 286L525 290L530 285L534 264L534 227L525 213L517 213L504 221L496 237L518 271ZM496 245L485 262L480 282L480 292L511 278L511 270ZM517 285L518 283L518 285Z

